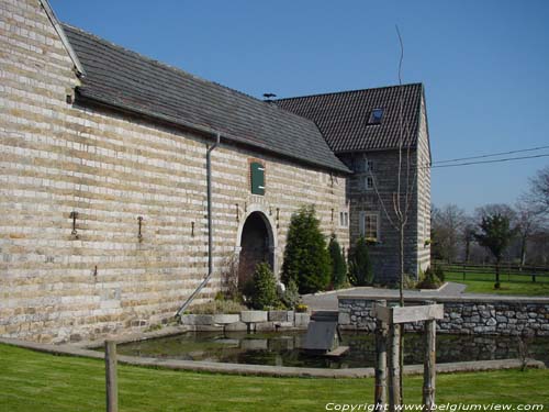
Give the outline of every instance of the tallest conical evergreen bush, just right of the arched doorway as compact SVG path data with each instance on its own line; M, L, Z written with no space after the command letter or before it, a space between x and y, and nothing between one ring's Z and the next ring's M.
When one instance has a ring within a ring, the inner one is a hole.
M292 214L282 265L282 281L295 281L300 293L325 290L330 280L329 254L314 207Z

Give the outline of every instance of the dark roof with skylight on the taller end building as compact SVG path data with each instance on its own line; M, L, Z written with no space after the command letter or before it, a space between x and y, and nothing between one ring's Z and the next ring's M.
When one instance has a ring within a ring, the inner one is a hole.
M404 145L415 146L422 83L280 99L276 103L316 123L336 153L399 147L402 93ZM383 109L381 124L369 124L373 109Z

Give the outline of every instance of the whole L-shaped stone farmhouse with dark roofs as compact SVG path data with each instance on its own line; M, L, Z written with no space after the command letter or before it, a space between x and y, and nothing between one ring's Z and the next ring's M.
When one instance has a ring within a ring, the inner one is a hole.
M232 261L240 280L260 260L278 274L305 204L345 249L370 238L378 280L394 279L380 199L401 124L406 270L429 264L422 85L261 101L60 24L46 0L0 0L0 335L154 325L212 298Z

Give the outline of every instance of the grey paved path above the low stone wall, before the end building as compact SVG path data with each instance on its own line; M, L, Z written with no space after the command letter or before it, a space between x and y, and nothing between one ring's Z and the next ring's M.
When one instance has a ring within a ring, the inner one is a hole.
M459 297L466 290L467 286L456 282L447 282L445 287L439 290L405 290L404 298L425 298L432 299L437 297ZM386 298L397 298L397 289L383 289L383 288L370 288L370 287L358 287L351 289L341 289L333 292L316 293L316 294L305 294L303 296L303 303L305 303L312 310L337 310L337 296L338 294L360 294L360 296L372 296L372 297L386 297Z

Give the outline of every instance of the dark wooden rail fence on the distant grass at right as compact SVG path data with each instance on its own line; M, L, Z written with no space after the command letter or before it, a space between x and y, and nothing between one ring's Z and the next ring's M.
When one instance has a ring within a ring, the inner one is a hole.
M462 279L466 280L468 275L486 275L486 280L492 280L495 275L495 265L479 265L463 261L447 263L441 260L434 260L434 267L440 267L445 274L461 274ZM500 276L507 276L507 280L511 280L511 276L528 277L533 282L536 281L549 281L549 267L542 266L520 266L511 263L502 263L500 265ZM470 276L471 277L471 276Z

